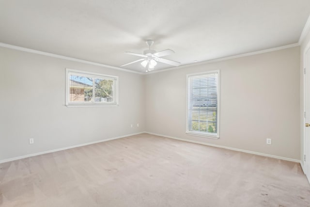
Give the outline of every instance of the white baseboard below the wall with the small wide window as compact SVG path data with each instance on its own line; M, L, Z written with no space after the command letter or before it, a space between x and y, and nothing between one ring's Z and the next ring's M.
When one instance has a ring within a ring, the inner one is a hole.
M65 149L76 148L76 147L90 145L90 144L94 144L94 143L107 142L107 141L110 141L110 140L116 140L116 139L120 139L120 138L124 138L124 137L129 137L129 136L133 136L133 135L138 135L138 134L143 134L143 133L144 132L138 132L138 133L133 133L133 134L126 134L126 135L123 135L123 136L113 137L113 138L109 138L109 139L105 139L105 140L99 140L99 141L90 142L90 143L77 144L77 145L63 147L63 148L59 148L59 149L52 149L52 150L48 150L48 151L44 151L44 152L38 152L38 153L29 154L29 155L23 155L23 156L19 156L19 157L15 157L15 158L2 159L2 160L0 160L0 163L10 162L10 161L14 161L14 160L17 160L17 159L29 158L29 157L33 157L33 156L37 156L37 155L43 155L43 154L47 154L47 153L51 153L51 152L62 151L62 150L65 150Z

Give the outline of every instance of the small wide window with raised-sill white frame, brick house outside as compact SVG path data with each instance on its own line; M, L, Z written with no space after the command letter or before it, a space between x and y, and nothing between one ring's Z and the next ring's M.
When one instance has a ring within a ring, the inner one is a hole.
M67 106L118 105L118 77L66 69Z

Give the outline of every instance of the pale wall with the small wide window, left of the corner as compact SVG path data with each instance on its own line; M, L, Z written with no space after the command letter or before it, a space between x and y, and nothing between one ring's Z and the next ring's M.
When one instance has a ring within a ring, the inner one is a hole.
M66 67L119 76L119 106L66 107ZM0 160L144 131L143 84L139 74L0 47Z

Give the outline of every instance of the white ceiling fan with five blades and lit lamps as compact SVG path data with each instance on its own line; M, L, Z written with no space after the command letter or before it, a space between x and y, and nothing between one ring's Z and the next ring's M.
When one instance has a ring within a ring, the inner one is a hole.
M156 52L155 50L151 49L151 46L154 43L153 40L146 40L145 43L149 46L149 49L144 50L143 54L138 54L134 52L125 52L126 54L129 54L129 55L136 55L136 56L142 57L142 59L139 59L137 61L133 61L127 64L123 64L121 65L121 67L126 66L128 64L134 64L134 63L142 61L141 65L146 68L145 72L148 72L148 71L154 70L157 62L164 63L164 64L171 64L173 66L179 66L181 64L176 61L171 61L165 58L161 58L163 56L173 54L174 53L173 50L165 49L163 51Z

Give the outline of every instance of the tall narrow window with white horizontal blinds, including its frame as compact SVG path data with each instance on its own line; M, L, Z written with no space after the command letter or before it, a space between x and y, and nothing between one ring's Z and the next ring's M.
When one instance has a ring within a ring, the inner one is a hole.
M218 138L219 71L187 75L186 133Z

